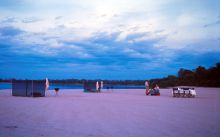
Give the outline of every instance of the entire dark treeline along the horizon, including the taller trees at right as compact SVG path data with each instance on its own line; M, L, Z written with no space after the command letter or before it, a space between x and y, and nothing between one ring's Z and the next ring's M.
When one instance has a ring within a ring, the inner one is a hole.
M3 80L0 82L11 82L13 79ZM52 84L83 84L84 82L96 82L97 80L86 79L63 79L51 80ZM104 84L109 85L144 85L145 80L102 80ZM216 66L206 69L199 66L194 70L181 68L177 75L169 75L165 78L151 79L150 83L157 83L160 87L174 87L174 86L203 86L203 87L220 87L220 63Z

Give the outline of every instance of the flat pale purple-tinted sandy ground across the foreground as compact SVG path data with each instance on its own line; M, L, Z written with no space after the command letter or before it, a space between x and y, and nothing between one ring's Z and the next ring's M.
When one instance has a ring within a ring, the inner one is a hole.
M0 137L219 137L220 89L196 98L145 96L143 89L50 91L14 97L0 90Z

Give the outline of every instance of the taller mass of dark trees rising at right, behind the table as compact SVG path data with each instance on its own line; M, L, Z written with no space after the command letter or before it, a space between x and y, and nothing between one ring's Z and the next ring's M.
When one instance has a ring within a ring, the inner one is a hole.
M181 68L177 76L168 76L162 79L152 79L151 82L158 83L160 87L174 86L202 86L220 87L220 63L215 67L206 69L199 66L195 70Z

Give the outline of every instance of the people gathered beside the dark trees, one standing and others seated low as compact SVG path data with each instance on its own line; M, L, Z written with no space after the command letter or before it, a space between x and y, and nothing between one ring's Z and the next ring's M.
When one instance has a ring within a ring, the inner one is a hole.
M156 83L149 84L148 81L145 82L145 88L146 88L146 95L151 96L160 96L160 89L159 86Z

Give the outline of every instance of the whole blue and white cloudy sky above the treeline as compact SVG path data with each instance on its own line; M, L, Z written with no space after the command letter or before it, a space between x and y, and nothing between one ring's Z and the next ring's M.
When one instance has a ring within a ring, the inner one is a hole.
M0 78L144 80L217 62L219 0L0 2Z

